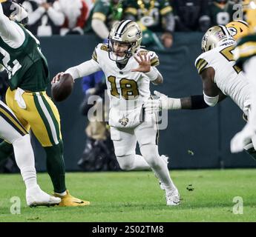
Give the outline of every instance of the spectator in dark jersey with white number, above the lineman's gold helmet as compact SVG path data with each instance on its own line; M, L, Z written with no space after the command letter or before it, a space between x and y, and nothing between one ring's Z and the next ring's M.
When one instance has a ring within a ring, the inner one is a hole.
M211 25L226 25L232 21L234 1L214 0L210 5Z

